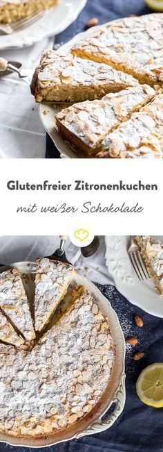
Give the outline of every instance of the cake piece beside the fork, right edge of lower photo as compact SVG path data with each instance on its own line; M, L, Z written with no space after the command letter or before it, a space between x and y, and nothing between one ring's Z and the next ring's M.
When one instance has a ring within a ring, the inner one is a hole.
M151 267L160 279L163 289L163 243L148 235L141 235L140 239Z

